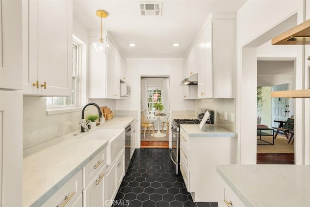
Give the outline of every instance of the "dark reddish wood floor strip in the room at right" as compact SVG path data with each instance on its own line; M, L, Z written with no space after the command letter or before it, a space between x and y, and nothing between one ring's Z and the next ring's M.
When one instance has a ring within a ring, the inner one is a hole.
M294 153L257 153L257 164L295 164Z

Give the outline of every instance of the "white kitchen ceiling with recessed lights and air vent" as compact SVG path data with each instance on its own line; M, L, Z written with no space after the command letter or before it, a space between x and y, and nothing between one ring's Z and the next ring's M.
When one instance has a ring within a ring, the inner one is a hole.
M95 11L107 11L103 30L109 31L125 58L183 58L210 13L236 12L246 0L161 0L161 16L140 16L139 2L73 0L73 16L87 30L97 30L99 37Z

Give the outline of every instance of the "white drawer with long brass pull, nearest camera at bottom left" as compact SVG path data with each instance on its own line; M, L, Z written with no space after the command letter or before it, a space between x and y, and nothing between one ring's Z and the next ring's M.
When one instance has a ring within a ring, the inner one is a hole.
M58 191L54 193L42 206L82 206L77 201L82 194L82 170L67 181Z

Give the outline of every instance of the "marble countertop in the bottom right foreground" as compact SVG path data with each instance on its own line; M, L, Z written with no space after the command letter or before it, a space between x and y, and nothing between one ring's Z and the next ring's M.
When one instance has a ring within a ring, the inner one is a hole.
M247 207L309 207L308 165L218 165L217 173Z

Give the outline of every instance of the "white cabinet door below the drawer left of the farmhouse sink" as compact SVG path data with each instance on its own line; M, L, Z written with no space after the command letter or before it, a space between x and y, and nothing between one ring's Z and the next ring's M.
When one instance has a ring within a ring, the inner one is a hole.
M85 207L104 207L105 173L102 170L85 190Z

